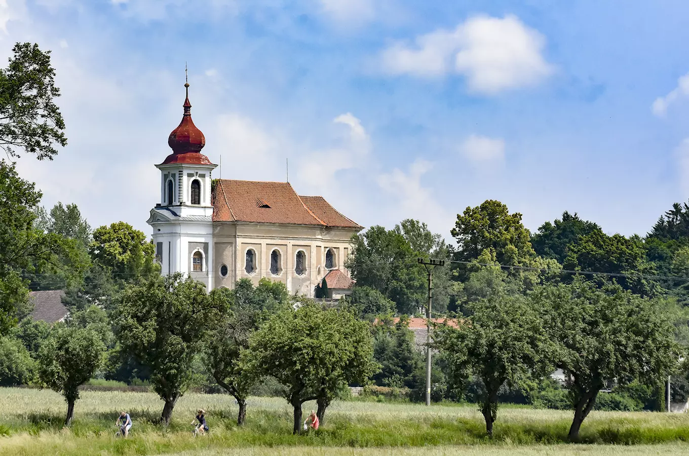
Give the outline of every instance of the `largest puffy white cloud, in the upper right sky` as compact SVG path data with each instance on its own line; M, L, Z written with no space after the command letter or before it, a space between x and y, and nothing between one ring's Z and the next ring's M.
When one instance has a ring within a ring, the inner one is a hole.
M472 92L496 94L535 85L553 73L542 55L545 43L542 34L513 15L477 16L455 30L420 35L412 46L394 43L380 60L387 74L461 74Z

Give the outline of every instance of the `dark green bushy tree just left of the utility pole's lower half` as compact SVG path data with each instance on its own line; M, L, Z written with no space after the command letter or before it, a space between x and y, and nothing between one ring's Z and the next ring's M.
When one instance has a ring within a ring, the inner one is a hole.
M373 357L381 368L372 377L377 385L393 388L418 386L414 374L423 369L424 361L415 349L414 333L408 326L409 320L403 315L396 324L384 318L373 327Z

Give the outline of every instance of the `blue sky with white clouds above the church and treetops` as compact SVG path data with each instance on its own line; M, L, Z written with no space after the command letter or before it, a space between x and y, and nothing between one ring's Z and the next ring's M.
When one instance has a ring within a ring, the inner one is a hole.
M189 66L223 178L449 237L495 198L645 234L689 198L686 1L0 0L0 57L53 52L69 145L19 160L48 207L145 224ZM686 21L685 21L686 22ZM214 177L220 174L216 170Z

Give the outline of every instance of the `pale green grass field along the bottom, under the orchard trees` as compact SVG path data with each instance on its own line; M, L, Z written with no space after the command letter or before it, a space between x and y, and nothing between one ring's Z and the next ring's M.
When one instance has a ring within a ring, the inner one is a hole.
M584 444L566 444L571 413L503 407L495 438L486 438L475 406L336 402L325 426L291 435L291 409L280 398L251 398L247 424L234 424L227 395L188 394L167 431L153 424L163 402L153 393L84 392L72 428L52 391L0 388L1 455L680 455L689 454L689 415L593 412ZM196 408L207 411L211 435L192 439ZM305 404L307 413L313 404ZM115 439L120 410L132 415L132 435Z

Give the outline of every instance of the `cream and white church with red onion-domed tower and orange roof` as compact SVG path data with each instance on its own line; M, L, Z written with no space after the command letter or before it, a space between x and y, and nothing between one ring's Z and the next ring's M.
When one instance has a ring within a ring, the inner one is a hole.
M205 137L192 121L189 83L185 88L182 121L167 140L172 154L156 165L161 202L147 220L162 273L188 274L208 290L265 277L309 298L325 279L325 297L349 294L354 281L345 260L363 227L287 182L213 179L217 165L201 154Z

